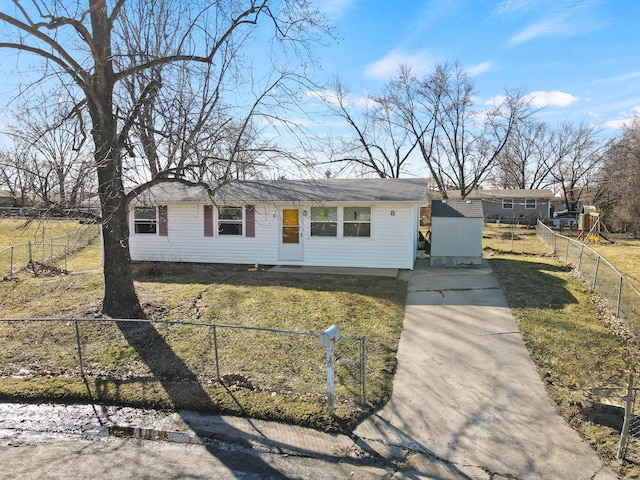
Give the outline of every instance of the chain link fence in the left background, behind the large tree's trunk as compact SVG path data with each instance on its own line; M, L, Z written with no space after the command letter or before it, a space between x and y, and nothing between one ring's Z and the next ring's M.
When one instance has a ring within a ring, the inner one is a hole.
M96 225L84 225L66 235L35 238L0 250L0 278L11 277L26 269L37 269L37 265L64 261L81 248L85 248L99 235Z

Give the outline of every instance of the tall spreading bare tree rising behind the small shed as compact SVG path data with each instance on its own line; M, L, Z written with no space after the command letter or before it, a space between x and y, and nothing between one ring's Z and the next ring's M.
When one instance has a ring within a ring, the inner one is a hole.
M531 114L518 93L488 110L474 104L473 82L458 64L437 64L417 76L406 66L380 97L417 143L443 197L448 189L466 197L496 165L518 122Z

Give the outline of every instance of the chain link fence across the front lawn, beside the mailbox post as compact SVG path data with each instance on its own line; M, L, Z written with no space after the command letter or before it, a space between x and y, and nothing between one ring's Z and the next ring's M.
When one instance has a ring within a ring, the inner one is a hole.
M0 394L28 379L36 396L154 408L216 411L229 388L326 402L319 337L186 321L0 320ZM365 349L365 337L336 342L336 403L366 405Z

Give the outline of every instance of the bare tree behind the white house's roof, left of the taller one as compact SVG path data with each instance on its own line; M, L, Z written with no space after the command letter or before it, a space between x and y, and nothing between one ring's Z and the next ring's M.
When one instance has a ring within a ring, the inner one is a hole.
M333 153L337 158L331 163L360 168L380 178L400 178L417 142L398 125L395 112L373 96L350 99L348 89L337 77L322 100L350 131L340 138L340 148Z

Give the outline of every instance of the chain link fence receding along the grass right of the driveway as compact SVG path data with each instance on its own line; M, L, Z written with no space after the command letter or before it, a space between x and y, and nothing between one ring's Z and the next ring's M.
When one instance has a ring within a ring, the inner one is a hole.
M640 338L640 291L606 258L578 240L560 235L538 222L537 235L609 304L629 331Z

